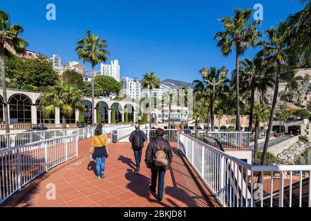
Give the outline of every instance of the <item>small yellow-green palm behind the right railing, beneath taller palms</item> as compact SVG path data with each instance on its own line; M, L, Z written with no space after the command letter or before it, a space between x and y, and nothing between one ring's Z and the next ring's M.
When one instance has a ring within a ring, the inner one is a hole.
M254 139L254 165L257 164L259 126L261 122L269 120L270 111L261 103L254 104L254 122L255 122L255 139Z

